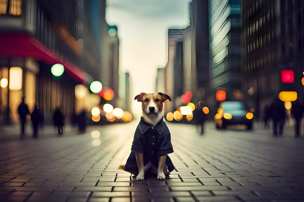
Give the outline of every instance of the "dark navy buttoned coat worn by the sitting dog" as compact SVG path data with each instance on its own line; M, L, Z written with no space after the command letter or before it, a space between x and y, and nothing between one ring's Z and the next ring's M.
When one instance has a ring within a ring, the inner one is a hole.
M144 165L151 161L155 168L158 168L157 156L173 153L170 131L163 119L156 125L150 125L144 122L144 119L141 117L135 130L131 154L125 166L125 171L133 174L138 173L136 152L144 153ZM174 166L168 155L165 163L169 171L174 170Z

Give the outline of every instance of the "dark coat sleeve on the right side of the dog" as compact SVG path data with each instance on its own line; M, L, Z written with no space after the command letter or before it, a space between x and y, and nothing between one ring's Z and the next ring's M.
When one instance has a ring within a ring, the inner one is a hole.
M173 146L171 143L171 134L167 125L165 125L164 131L159 135L159 145L157 149L157 155L167 155L173 153Z

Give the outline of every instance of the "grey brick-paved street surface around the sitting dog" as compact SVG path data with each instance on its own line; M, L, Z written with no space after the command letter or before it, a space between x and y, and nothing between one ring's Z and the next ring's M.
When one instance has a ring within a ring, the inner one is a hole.
M169 178L136 179L119 167L137 122L91 126L82 135L0 142L1 202L303 202L304 138L269 130L168 124ZM91 131L98 130L101 133Z

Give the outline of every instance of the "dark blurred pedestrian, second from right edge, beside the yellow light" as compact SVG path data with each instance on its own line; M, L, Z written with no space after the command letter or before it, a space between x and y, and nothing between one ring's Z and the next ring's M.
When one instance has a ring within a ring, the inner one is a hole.
M274 98L270 105L270 117L272 119L273 135L283 134L283 127L286 120L286 111L283 102L279 98Z

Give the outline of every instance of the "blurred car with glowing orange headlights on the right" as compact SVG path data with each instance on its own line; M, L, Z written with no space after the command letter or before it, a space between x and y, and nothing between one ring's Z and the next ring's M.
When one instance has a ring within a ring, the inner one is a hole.
M227 128L227 125L244 124L247 130L252 129L253 113L246 110L245 104L239 101L223 101L214 116L217 128Z

